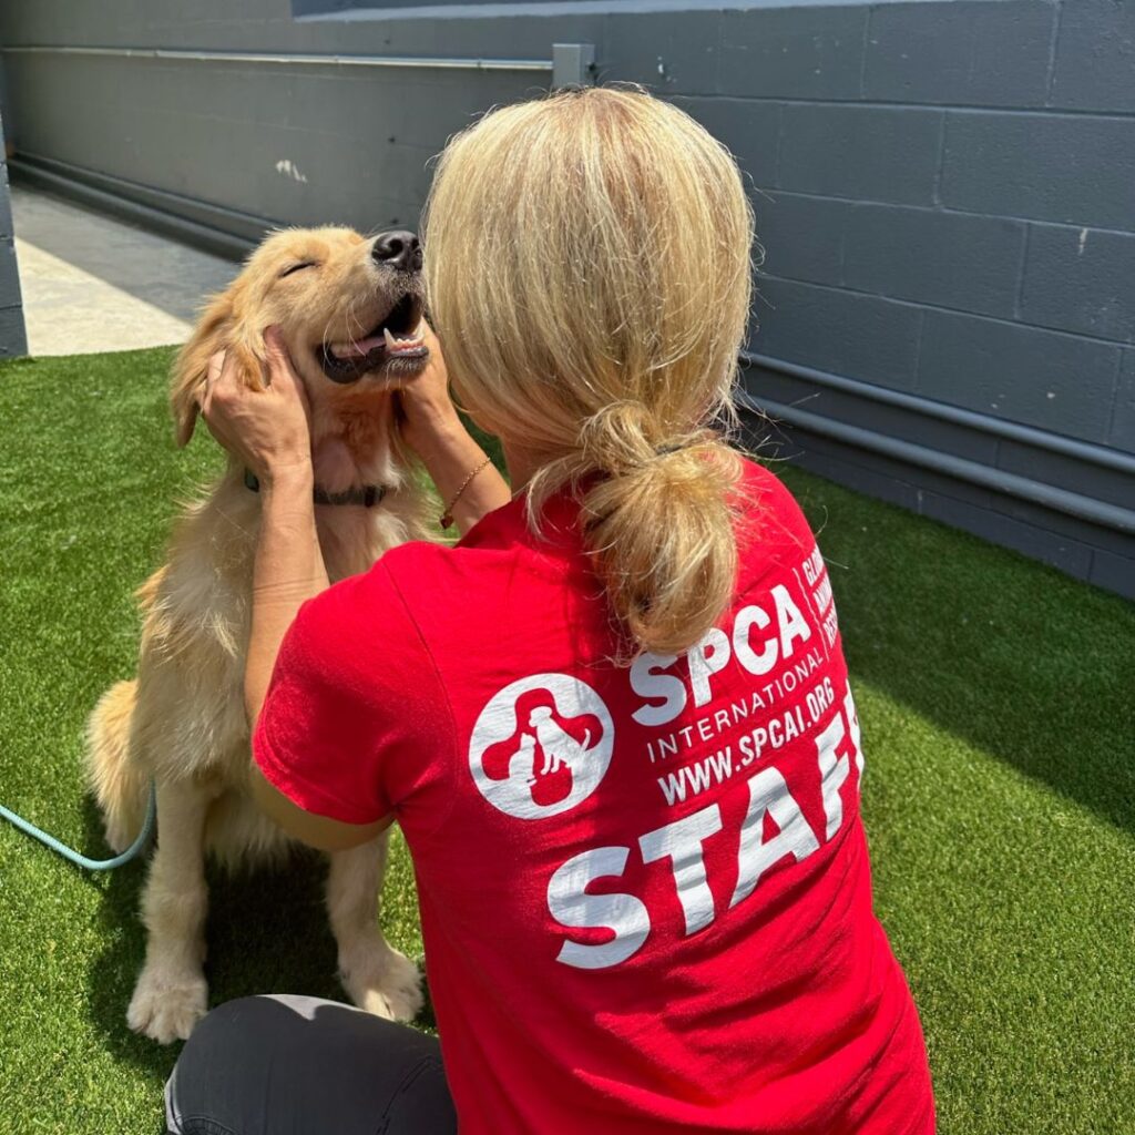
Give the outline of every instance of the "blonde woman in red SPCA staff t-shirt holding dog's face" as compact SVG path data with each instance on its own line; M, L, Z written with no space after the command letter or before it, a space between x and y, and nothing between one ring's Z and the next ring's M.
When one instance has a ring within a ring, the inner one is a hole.
M215 369L207 420L266 489L258 792L320 847L402 825L445 1075L411 1029L246 999L190 1041L170 1130L442 1132L453 1109L469 1135L933 1130L823 561L708 426L751 242L729 154L644 94L455 138L430 310L518 493L438 362L402 395L406 438L464 537L330 589L286 360L264 394Z

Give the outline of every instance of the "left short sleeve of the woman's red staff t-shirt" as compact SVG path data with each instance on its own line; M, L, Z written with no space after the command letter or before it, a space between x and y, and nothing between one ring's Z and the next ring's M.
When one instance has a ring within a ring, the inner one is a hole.
M350 824L398 809L430 780L448 703L381 563L310 599L280 645L252 739L293 804Z

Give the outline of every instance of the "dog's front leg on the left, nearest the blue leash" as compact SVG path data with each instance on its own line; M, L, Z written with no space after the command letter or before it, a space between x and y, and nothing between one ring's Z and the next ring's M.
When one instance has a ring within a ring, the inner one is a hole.
M192 783L158 787L158 847L142 897L142 919L149 931L145 965L126 1022L160 1044L186 1040L205 1012L209 801L209 794Z

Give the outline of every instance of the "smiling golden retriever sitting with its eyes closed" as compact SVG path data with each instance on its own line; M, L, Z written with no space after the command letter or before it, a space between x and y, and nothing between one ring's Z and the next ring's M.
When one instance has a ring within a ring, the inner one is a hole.
M339 495L316 505L333 582L365 571L403 540L428 536L393 397L429 354L420 268L411 233L372 239L346 228L275 233L212 300L174 367L171 403L185 445L210 355L235 353L244 380L259 386L262 330L280 325L311 403L317 502L320 491L325 499ZM111 847L131 842L151 780L157 784L158 846L142 899L145 965L127 1022L161 1043L187 1037L207 1007L207 854L236 867L278 856L289 843L255 809L247 788L243 681L260 515L254 486L229 457L208 495L182 513L165 564L138 591L137 678L111 687L87 726L87 772ZM371 486L369 503L343 503ZM405 1020L421 1007L421 981L378 928L385 859L385 834L333 854L327 908L352 1000Z

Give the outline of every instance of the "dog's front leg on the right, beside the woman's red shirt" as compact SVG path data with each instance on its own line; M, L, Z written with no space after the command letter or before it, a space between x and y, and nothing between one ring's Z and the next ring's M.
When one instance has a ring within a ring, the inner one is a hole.
M331 852L327 910L339 948L339 977L361 1009L393 1020L413 1020L422 1007L421 975L378 928L378 896L386 869L388 833Z

